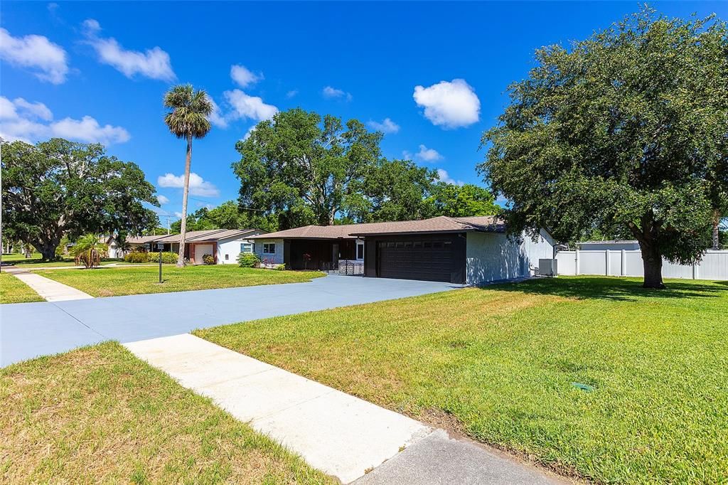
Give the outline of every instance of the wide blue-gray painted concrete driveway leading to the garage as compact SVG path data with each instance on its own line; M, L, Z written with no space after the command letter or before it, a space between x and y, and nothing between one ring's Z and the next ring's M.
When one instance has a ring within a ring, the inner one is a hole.
M0 305L0 366L105 340L135 342L258 318L460 288L327 276L309 283Z

